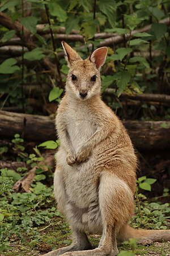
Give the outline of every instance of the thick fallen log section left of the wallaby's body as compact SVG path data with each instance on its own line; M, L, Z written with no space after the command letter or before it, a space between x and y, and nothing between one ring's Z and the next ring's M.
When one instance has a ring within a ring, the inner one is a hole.
M0 137L13 138L16 133L29 141L56 140L54 120L49 116L0 111Z

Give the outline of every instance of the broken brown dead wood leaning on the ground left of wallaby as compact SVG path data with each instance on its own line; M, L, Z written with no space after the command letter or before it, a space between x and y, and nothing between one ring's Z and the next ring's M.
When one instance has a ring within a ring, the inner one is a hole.
M31 192L29 190L30 184L33 182L33 179L35 179L36 176L36 169L38 167L41 167L41 169L44 169L45 171L48 171L48 167L52 167L54 169L55 161L54 156L46 156L44 158L44 161L40 162L37 166L33 167L28 173L19 179L14 186L12 187L12 190L14 192Z

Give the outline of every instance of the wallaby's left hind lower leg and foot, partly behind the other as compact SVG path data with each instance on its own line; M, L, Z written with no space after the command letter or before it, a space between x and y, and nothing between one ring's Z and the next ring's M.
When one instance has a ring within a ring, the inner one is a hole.
M88 250L91 249L91 244L88 241L86 233L74 230L72 233L73 242L71 245L59 248L49 253L44 254L43 256L58 256L66 253L66 251L78 251L78 250Z

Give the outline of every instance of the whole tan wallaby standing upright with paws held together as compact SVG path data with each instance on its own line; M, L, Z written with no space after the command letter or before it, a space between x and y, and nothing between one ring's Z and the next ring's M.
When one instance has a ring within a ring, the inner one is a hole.
M69 66L66 93L59 104L54 194L69 222L73 242L51 251L56 255L117 255L116 240L170 241L170 230L135 230L128 225L134 213L135 156L130 137L100 97L100 68L107 47L82 60L62 41ZM96 249L86 231L101 233Z

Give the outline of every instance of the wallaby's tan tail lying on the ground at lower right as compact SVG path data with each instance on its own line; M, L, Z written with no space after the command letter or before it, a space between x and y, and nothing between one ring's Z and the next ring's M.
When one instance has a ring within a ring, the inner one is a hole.
M125 225L118 233L118 240L126 241L129 240L129 238L135 238L142 244L170 241L170 230L139 230Z

